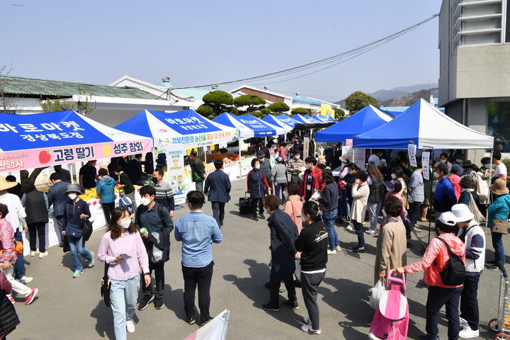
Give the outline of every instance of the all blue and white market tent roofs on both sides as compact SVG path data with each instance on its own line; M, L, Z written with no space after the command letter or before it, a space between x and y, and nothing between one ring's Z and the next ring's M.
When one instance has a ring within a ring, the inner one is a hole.
M339 123L318 116L259 119L229 113L209 120L193 110L145 110L110 128L74 111L1 113L0 171L127 156L153 148L157 152L185 150L312 128L324 128L316 132L316 142L352 140L353 148L363 149L407 149L409 143L418 149L492 149L494 145L493 137L467 128L423 99L397 117L367 106Z

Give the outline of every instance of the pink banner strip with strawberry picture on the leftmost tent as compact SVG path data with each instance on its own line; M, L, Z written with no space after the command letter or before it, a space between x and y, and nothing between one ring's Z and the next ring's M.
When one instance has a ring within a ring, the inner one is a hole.
M0 152L0 171L33 169L55 164L86 162L91 159L122 157L130 154L142 154L151 150L152 140L147 139Z

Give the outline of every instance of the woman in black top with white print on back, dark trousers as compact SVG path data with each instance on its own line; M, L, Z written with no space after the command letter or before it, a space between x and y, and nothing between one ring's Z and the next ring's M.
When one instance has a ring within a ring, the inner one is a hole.
M301 290L309 316L303 319L305 325L301 329L309 334L320 334L317 288L326 276L328 232L319 204L309 200L303 205L302 216L306 223L295 249L301 252Z

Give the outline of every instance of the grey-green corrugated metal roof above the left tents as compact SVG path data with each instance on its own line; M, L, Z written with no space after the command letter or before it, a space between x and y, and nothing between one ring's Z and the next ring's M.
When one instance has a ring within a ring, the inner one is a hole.
M23 77L0 78L3 82L4 92L6 94L16 94L18 96L50 96L62 98L85 94L88 96L101 97L158 99L154 94L149 94L149 92L130 87L93 85Z

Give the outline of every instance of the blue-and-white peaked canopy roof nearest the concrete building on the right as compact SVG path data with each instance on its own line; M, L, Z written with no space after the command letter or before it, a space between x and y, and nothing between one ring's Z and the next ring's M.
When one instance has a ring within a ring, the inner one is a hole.
M407 149L492 149L494 138L467 128L420 99L391 122L353 138L353 147Z

